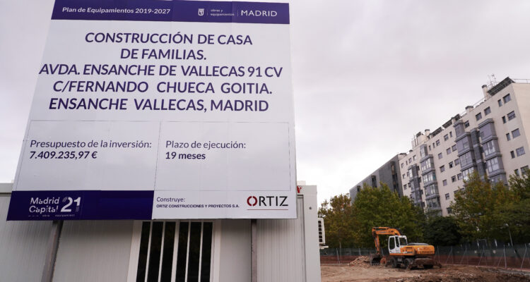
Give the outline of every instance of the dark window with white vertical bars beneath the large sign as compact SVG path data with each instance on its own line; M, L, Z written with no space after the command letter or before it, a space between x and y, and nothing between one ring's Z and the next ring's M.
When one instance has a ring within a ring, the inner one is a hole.
M212 238L212 222L144 221L136 281L210 281Z

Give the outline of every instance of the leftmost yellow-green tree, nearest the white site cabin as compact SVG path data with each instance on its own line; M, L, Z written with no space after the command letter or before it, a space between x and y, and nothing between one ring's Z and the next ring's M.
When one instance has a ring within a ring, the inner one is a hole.
M336 195L329 202L324 201L319 208L319 216L324 219L326 244L329 247L352 247L353 210L348 194Z

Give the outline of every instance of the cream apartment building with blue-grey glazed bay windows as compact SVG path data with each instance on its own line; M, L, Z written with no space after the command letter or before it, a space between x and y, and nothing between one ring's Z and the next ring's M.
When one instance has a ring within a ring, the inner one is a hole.
M447 215L470 173L493 183L530 165L530 81L483 85L483 98L434 131L414 135L399 158L403 195L426 211Z

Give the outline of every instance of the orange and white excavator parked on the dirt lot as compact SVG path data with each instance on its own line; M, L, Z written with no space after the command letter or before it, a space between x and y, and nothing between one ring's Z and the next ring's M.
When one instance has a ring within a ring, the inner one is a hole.
M381 252L379 235L390 235L388 238L389 256L384 257ZM372 236L375 242L375 255L370 255L370 264L391 265L394 268L403 265L406 269L415 269L423 266L432 269L432 266L442 267L440 262L432 259L435 247L425 243L408 243L407 237L401 235L396 228L372 227Z

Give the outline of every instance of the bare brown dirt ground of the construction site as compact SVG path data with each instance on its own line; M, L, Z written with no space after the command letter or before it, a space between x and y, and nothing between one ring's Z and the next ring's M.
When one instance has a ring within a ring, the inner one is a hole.
M322 265L322 282L523 282L530 281L530 272L508 271L481 266L447 264L441 269L393 269L370 266L363 258L351 264Z

